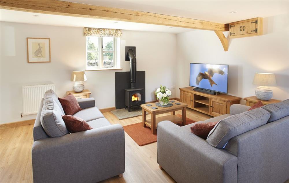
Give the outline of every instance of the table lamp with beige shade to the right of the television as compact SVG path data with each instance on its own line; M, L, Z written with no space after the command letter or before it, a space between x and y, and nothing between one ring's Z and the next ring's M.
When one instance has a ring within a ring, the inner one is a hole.
M277 86L275 74L256 72L253 84L259 86L255 90L255 95L258 99L270 100L273 97L273 92L268 86Z

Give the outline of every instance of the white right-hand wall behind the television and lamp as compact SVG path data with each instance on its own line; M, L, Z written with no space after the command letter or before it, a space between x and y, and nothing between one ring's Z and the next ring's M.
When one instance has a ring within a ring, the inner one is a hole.
M275 73L273 99L288 99L289 14L264 18L264 35L230 39L227 52L213 31L177 34L178 97L178 88L189 86L189 63L228 64L228 93L242 98L255 95L255 72Z

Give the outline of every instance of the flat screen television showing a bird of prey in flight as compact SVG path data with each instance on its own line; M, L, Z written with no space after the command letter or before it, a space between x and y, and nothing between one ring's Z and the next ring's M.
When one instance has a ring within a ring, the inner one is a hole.
M228 65L190 63L190 86L228 93Z

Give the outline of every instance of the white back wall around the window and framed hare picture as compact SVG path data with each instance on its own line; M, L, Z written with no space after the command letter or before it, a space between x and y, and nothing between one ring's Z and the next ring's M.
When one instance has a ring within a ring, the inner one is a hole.
M0 22L1 24L1 121L0 123L34 119L20 117L24 85L55 83L59 97L72 90L71 71L85 69L85 37L81 27L58 27L36 24ZM51 39L51 63L27 63L26 37ZM160 84L175 85L176 35L142 31L123 31L121 38L122 70L86 71L84 82L98 108L115 106L114 73L129 71L124 61L124 47L136 46L137 70L146 71L146 100ZM172 90L175 97L175 89Z

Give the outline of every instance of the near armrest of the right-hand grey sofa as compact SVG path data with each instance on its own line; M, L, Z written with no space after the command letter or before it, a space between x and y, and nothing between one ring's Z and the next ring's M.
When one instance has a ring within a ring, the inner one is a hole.
M237 182L238 159L184 127L158 124L158 164L177 182Z

